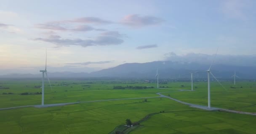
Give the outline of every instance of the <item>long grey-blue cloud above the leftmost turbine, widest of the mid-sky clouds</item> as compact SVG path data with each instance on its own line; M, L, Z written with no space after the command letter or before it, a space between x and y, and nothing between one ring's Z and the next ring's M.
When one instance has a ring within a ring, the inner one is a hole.
M123 43L123 39L115 36L98 36L95 39L62 39L60 36L51 35L47 38L36 38L34 40L50 42L58 46L108 46L119 45Z

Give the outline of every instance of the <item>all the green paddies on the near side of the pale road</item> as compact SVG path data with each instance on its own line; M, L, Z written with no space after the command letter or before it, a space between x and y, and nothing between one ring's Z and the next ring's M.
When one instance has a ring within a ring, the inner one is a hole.
M232 130L253 134L256 116L202 111L167 98L80 103L50 108L19 108L0 111L1 134L107 134L126 119L141 123L131 134L213 133ZM228 134L230 131L227 131Z

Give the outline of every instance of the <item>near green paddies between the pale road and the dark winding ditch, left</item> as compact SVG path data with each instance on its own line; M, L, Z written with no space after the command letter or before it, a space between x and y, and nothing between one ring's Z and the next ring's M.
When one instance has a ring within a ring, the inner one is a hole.
M0 111L1 134L107 134L126 119L138 121L158 111L192 110L168 99L81 103L51 108L19 108ZM166 106L168 105L168 107ZM15 128L15 129L12 129Z

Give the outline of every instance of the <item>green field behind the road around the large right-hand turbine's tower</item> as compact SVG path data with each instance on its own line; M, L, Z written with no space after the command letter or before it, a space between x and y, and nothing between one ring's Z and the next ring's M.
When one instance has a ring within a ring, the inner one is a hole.
M236 111L256 112L255 82L237 82L236 86L232 85L230 82L222 82L222 85L224 85L226 90L223 89L219 83L211 82L212 107L226 108ZM207 82L195 82L194 86L197 86L197 88L194 89L194 92L173 92L163 93L163 95L170 95L172 98L176 98L180 101L207 106ZM236 88L230 88L230 86Z

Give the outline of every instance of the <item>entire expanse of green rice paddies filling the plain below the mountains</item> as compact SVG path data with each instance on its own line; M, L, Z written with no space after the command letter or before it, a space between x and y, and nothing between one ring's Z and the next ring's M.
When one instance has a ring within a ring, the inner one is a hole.
M41 80L0 80L0 108L40 105ZM256 112L256 82L211 82L213 107ZM157 97L156 93L207 105L207 82L160 84L165 88L113 89L114 86L155 87L142 80L51 80L45 84L45 104L119 98ZM168 87L168 88L166 88ZM232 88L231 88L232 87ZM8 89L7 89L8 88ZM38 92L38 93L37 93ZM21 95L28 93L28 95ZM161 112L160 111L164 111ZM126 134L254 134L256 116L221 111L203 111L168 98L147 98L79 103L48 108L17 108L0 111L0 134L109 134L126 119L140 121Z

